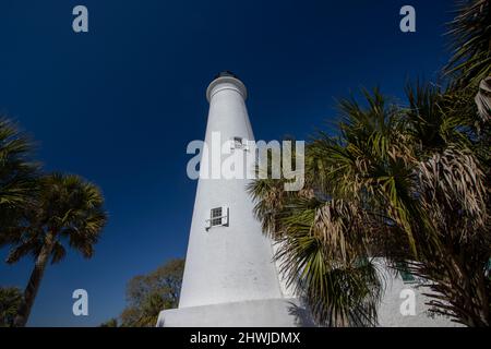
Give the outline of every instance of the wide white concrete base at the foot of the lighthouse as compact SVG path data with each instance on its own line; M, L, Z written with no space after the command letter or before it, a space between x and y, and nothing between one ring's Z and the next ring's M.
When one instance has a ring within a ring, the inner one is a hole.
M161 311L157 327L313 326L298 299L250 300Z

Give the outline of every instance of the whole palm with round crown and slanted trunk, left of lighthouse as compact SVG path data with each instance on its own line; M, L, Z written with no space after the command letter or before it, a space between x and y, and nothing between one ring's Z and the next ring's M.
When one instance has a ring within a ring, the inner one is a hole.
M27 323L48 262L64 257L64 239L84 257L93 256L107 220L103 204L100 191L77 176L53 173L40 179L39 193L24 213L26 224L17 229L7 261L15 263L27 254L36 258L15 326Z

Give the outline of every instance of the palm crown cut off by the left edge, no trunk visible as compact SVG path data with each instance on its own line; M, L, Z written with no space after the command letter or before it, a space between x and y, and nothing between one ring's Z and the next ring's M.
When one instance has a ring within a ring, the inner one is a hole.
M32 143L5 118L0 118L0 245L17 224L22 207L36 190L37 166L29 159Z

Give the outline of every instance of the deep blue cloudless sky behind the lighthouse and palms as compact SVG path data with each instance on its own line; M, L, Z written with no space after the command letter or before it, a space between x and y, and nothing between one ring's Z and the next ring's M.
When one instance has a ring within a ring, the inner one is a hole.
M72 31L76 4L88 8L88 34ZM416 8L415 34L398 28L404 4ZM450 0L1 0L0 111L35 137L47 170L97 183L110 216L95 257L70 253L49 266L29 324L97 325L122 311L131 277L184 256L195 189L185 146L204 135L217 72L248 86L256 139L306 139L350 89L380 85L400 98L408 77L434 80L451 9ZM0 285L24 287L32 266L0 263ZM72 315L76 288L88 291L87 317Z

